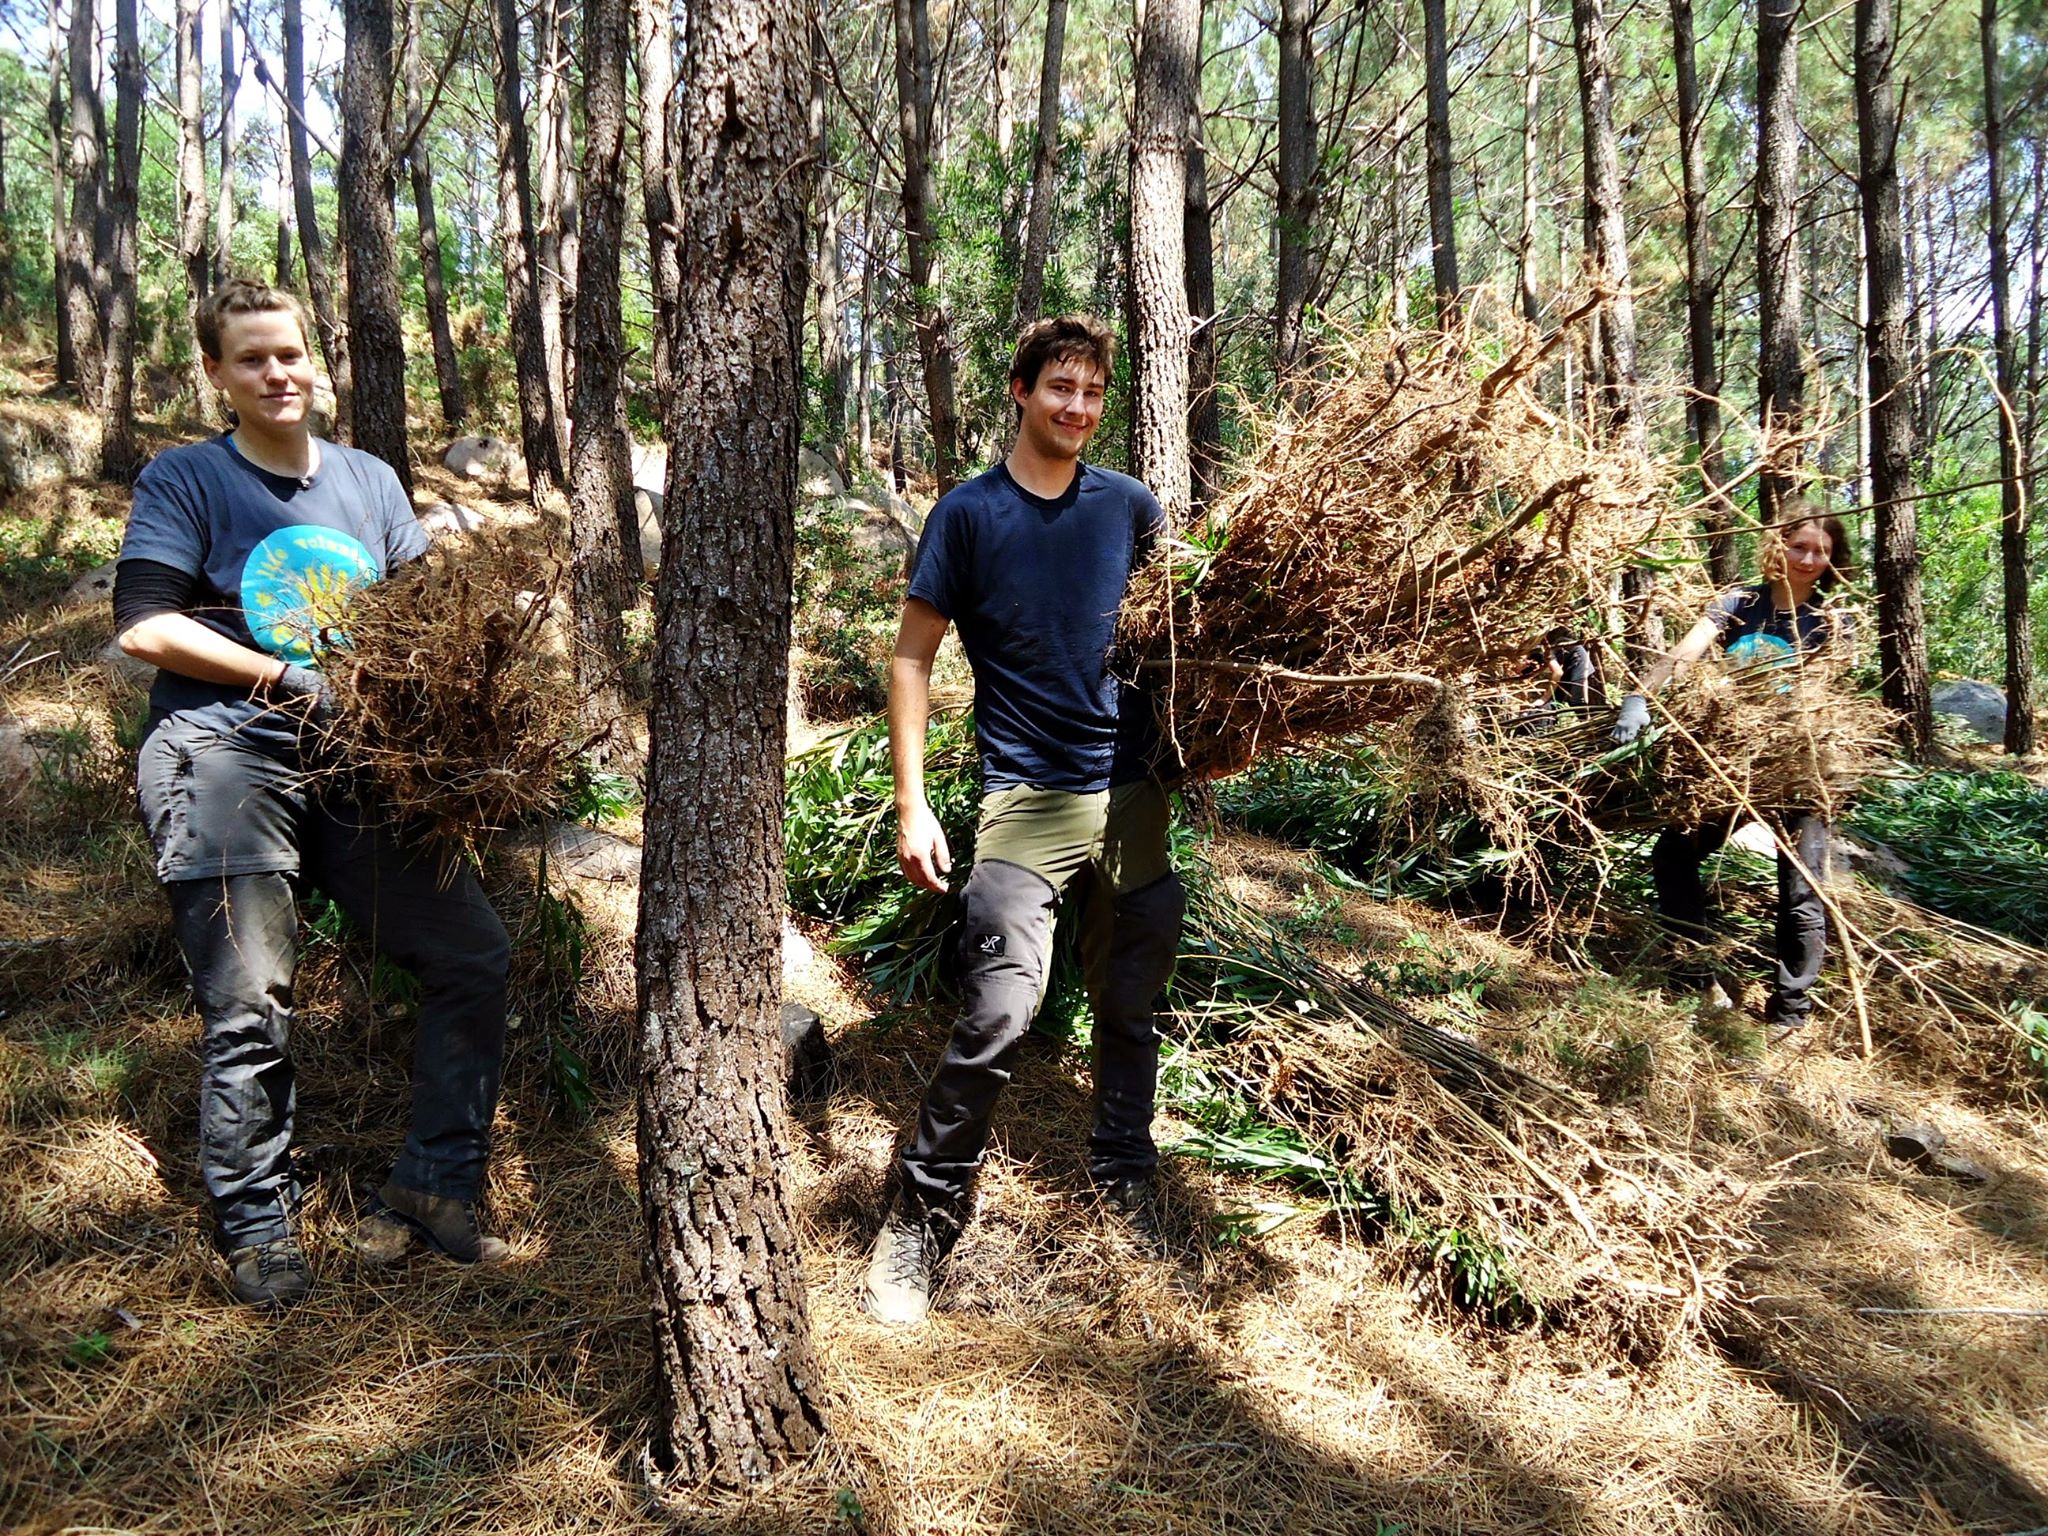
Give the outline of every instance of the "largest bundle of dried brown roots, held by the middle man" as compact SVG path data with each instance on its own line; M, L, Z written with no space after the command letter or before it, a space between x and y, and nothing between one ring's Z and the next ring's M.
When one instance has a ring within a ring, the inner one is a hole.
M1122 612L1192 772L1395 721L1417 688L1489 678L1604 598L1665 487L1538 401L1569 332L1491 371L1436 334L1360 338L1266 426Z

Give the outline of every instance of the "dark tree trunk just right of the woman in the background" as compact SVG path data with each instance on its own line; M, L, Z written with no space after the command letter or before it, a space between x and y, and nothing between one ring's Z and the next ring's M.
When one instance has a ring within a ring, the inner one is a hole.
M1896 0L1855 0L1858 195L1870 274L1870 494L1876 500L1878 670L1907 745L1933 739L1927 625L1921 614L1913 502L1913 399L1907 393L1907 305L1898 215L1898 100L1892 92Z

